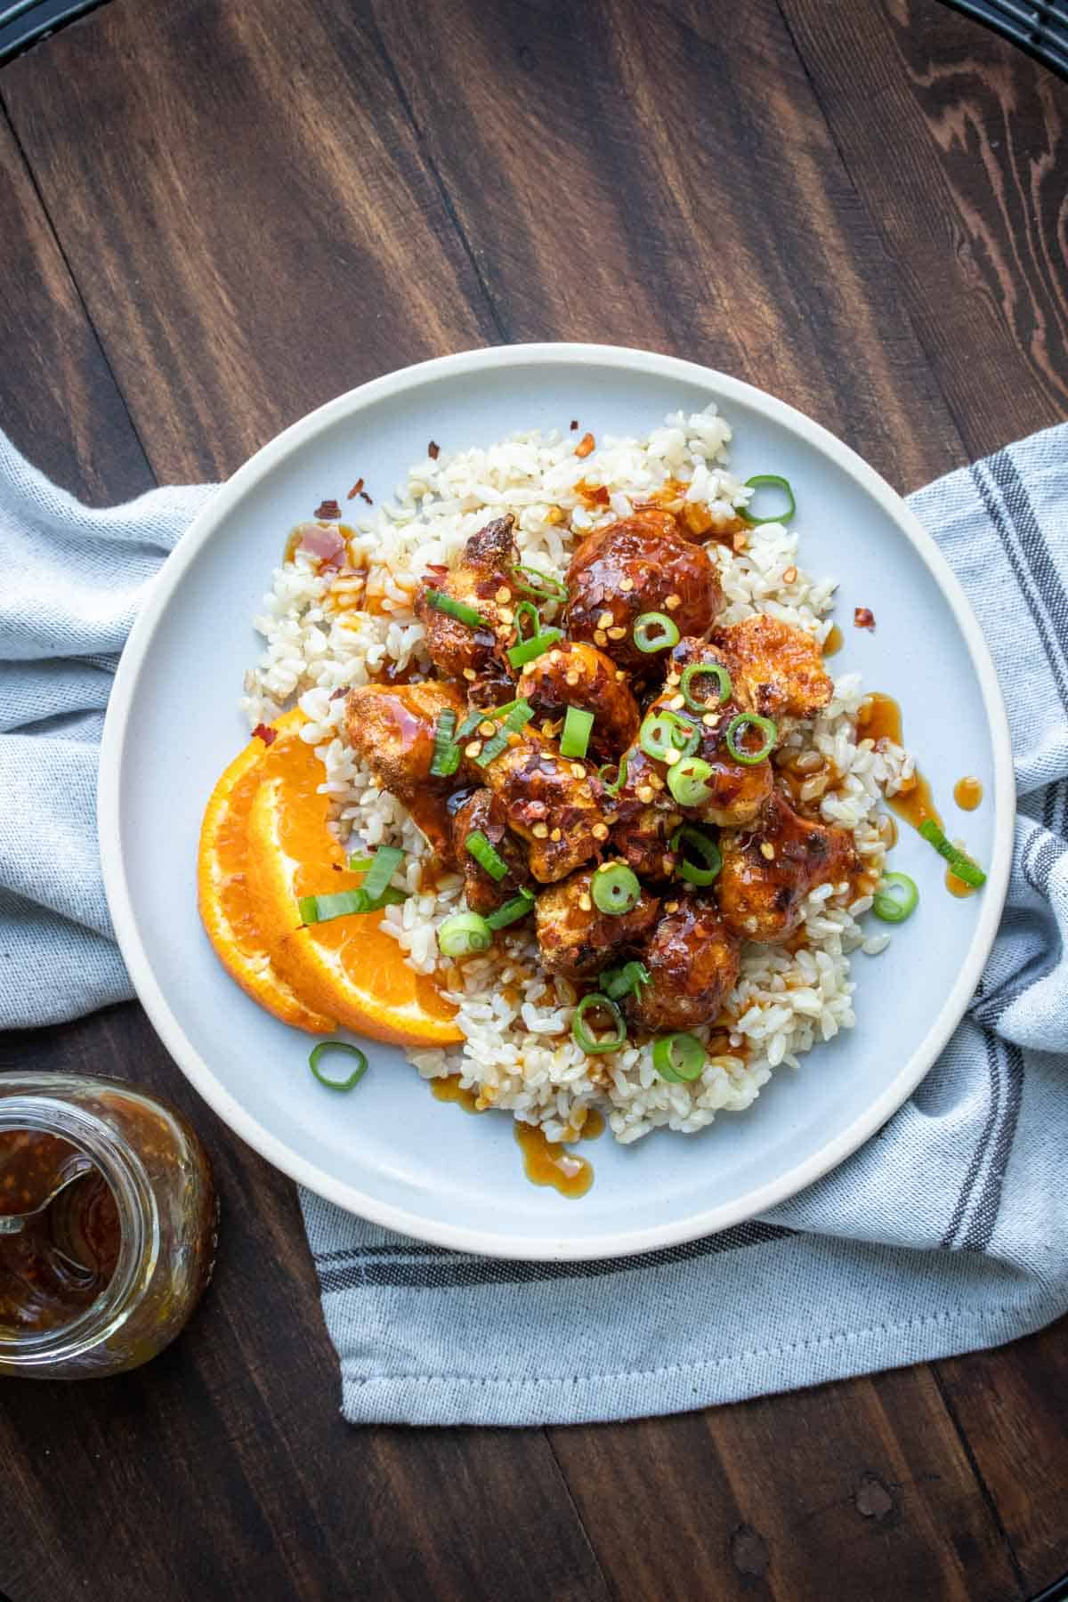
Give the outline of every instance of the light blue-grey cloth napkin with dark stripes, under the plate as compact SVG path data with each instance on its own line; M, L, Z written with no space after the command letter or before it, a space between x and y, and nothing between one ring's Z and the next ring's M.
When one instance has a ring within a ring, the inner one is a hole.
M207 489L88 511L0 436L0 1024L130 995L93 817L115 654ZM761 1221L616 1262L423 1246L301 1195L354 1423L669 1413L996 1346L1068 1309L1068 425L911 498L996 662L1020 820L966 1020L913 1099Z

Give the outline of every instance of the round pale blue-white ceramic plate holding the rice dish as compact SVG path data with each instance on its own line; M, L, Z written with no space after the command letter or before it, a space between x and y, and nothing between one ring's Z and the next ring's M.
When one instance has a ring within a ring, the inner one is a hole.
M383 498L429 439L450 449L519 428L644 434L666 412L716 400L733 468L794 485L802 561L841 580L844 650L868 689L895 695L950 822L988 865L954 900L942 865L901 830L895 867L922 891L879 958L857 955L857 1028L780 1069L756 1105L695 1136L583 1147L580 1202L533 1187L512 1120L444 1105L399 1051L338 1096L307 1072L309 1036L261 1012L221 969L197 918L195 851L211 787L248 739L235 710L259 642L250 618L288 529L357 474ZM852 628L855 606L876 614ZM982 809L954 815L964 774ZM320 407L251 458L167 562L123 654L101 751L99 830L118 942L168 1051L232 1129L293 1179L423 1240L511 1258L608 1258L711 1234L812 1184L866 1141L927 1072L990 952L1012 847L1009 734L990 654L933 541L852 450L749 384L610 346L471 351L375 380Z

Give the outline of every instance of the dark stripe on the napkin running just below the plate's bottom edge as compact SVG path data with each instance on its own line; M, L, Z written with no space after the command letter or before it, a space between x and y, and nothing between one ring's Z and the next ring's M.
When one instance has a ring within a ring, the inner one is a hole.
M363 1246L351 1253L325 1253L317 1258L319 1283L323 1296L330 1291L354 1291L370 1286L404 1290L474 1290L480 1285L536 1285L552 1280L589 1280L605 1274L632 1274L639 1269L692 1262L719 1251L740 1251L775 1240L788 1240L796 1232L777 1224L738 1224L721 1235L706 1235L682 1246L644 1251L636 1258L597 1258L591 1262L514 1262L504 1258L471 1258L440 1246ZM322 1267L330 1258L330 1267ZM338 1261L347 1258L347 1262Z

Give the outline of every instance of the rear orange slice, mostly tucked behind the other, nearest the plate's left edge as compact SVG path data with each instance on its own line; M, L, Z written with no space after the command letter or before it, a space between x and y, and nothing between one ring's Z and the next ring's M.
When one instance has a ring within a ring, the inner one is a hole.
M304 714L296 710L279 718L271 745L258 735L250 740L211 791L200 827L197 899L208 939L242 990L283 1024L330 1035L336 1028L333 1017L307 1006L272 963L250 900L255 865L248 859L247 825L259 785L271 775L296 793L322 783L322 763L298 732L303 723Z

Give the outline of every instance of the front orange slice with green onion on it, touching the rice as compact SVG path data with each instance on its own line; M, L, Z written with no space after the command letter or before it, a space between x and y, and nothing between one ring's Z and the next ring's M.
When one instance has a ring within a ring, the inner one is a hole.
M415 974L379 926L381 913L355 913L303 928L301 896L355 889L346 857L327 828L327 796L293 791L267 779L248 814L256 862L253 904L259 928L274 932L271 958L312 1006L373 1040L402 1046L448 1046L463 1040L455 1008L432 979Z

